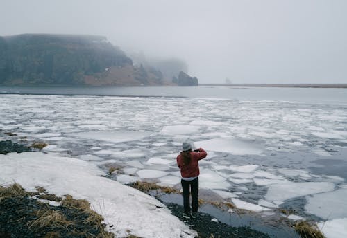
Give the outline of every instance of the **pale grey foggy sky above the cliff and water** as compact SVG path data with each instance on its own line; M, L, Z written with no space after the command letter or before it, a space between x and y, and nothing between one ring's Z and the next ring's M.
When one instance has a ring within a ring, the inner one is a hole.
M1 0L0 23L178 57L201 83L347 83L346 0Z

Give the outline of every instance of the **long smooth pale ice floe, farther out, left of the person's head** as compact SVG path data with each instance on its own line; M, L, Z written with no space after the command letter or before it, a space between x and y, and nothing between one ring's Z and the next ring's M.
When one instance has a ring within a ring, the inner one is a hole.
M87 131L81 133L73 133L70 135L83 139L121 143L132 140L141 140L142 138L149 136L150 133L146 131Z

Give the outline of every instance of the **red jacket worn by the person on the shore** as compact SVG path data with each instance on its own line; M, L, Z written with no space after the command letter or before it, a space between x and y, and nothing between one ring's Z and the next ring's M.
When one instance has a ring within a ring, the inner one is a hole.
M198 169L198 161L205 158L208 153L202 148L199 148L198 151L199 152L190 152L191 157L188 165L183 163L183 156L180 154L177 156L177 165L180 168L180 175L183 178L197 177L200 174L200 170Z

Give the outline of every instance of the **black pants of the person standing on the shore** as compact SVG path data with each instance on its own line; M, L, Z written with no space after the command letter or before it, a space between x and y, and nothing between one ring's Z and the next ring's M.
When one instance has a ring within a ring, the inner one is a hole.
M180 183L182 183L185 212L190 212L190 194L192 194L192 212L198 212L198 178L192 181L181 179Z

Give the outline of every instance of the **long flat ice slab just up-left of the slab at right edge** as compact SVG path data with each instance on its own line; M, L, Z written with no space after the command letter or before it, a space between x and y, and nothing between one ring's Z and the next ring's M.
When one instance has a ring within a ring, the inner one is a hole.
M326 182L306 182L306 183L281 183L269 185L269 190L265 195L266 200L285 201L297 196L305 196L320 192L330 192L334 190L333 183Z

